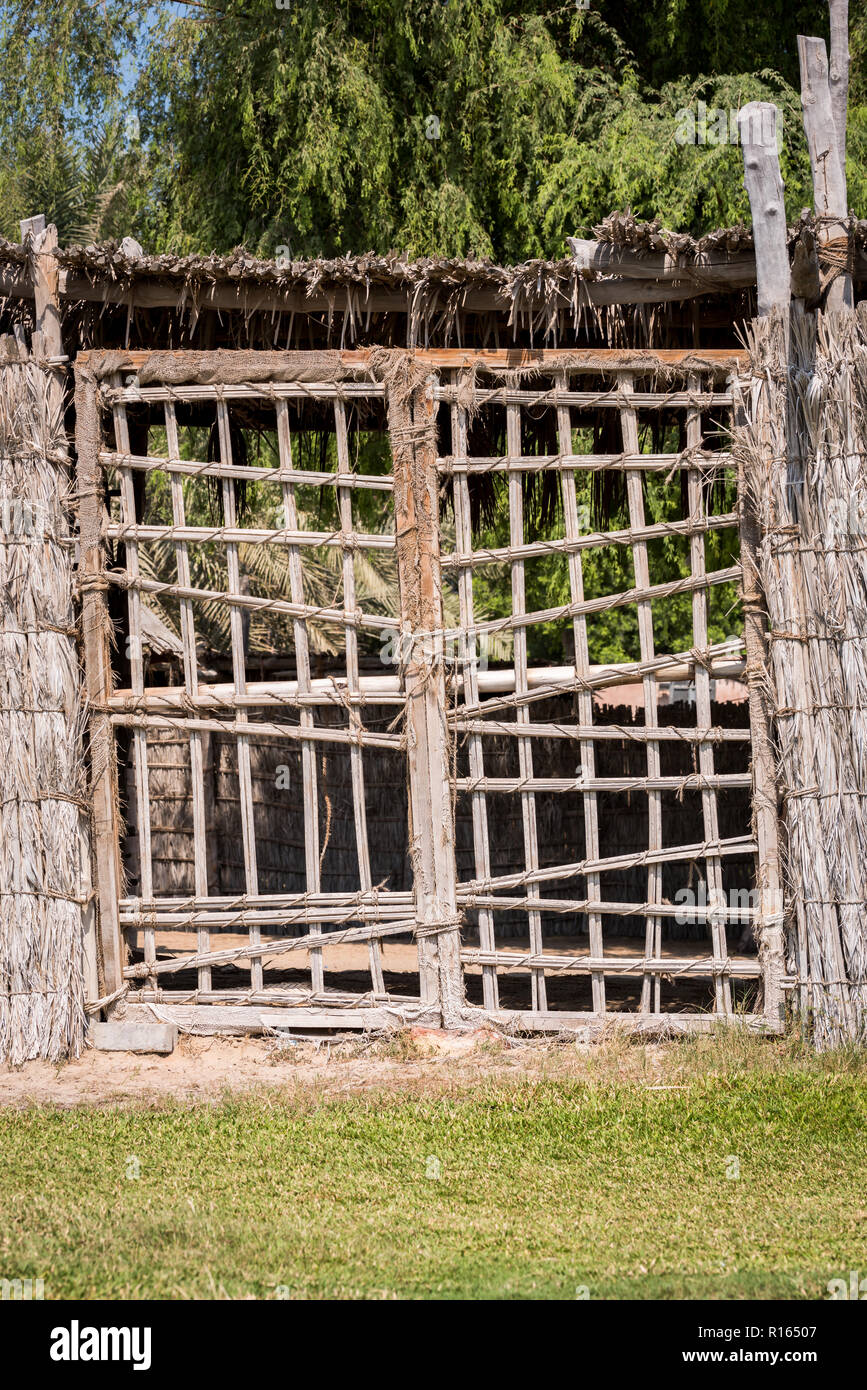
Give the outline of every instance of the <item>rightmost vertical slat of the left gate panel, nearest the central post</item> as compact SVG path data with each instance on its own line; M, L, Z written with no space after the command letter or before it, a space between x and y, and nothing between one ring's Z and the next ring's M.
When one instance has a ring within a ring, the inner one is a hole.
M353 815L356 820L356 849L358 855L358 878L361 892L370 892L374 885L370 869L370 849L367 844L367 805L364 799L364 753L361 751L361 713L358 699L358 634L354 626L356 613L356 560L352 548L353 514L352 514L352 486L340 484L340 478L352 477L349 461L349 439L346 434L346 403L339 398L335 400L335 430L338 441L338 513L340 518L340 537L343 538L343 612L346 614L346 684L349 701L349 728L358 739L349 745L349 766L352 771ZM382 948L378 940L368 942L371 984L374 992L383 994L382 979Z

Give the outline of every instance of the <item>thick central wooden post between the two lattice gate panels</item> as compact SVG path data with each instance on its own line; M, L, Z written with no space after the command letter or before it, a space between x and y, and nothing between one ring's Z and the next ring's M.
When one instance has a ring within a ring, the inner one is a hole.
M439 1008L442 1023L449 1027L461 1023L463 974L446 727L434 410L431 377L406 403L396 403L389 392L418 973L422 999ZM411 421L404 418L407 413Z

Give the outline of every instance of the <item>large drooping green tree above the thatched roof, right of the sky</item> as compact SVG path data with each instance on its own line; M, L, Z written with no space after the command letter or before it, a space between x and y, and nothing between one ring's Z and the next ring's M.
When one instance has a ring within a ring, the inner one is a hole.
M150 245L514 261L561 254L624 206L693 232L748 220L739 149L678 143L678 111L702 100L777 101L789 214L809 202L791 82L798 25L824 32L823 4L224 8L164 15L151 47Z

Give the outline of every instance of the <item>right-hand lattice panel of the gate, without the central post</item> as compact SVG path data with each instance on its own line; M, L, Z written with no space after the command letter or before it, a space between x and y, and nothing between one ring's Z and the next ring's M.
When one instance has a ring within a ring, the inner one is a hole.
M722 584L741 578L741 567L728 567L717 573L707 573L704 559L704 537L713 528L736 527L739 514L736 512L720 516L707 516L704 510L704 492L709 475L718 468L732 468L732 457L725 450L709 448L709 442L702 436L702 410L709 407L714 413L714 420L724 424L729 416L734 398L731 392L731 364L728 373L724 364L713 360L700 363L693 359L682 366L674 361L667 363L668 379L664 389L636 391L635 374L636 363L624 361L624 354L600 354L600 361L591 364L591 373L606 373L604 384L600 389L577 389L570 378L588 371L586 363L578 361L568 370L557 371L556 356L552 354L553 385L539 388L532 379L521 381L520 374L509 381L507 375L485 388L467 392L465 382L461 384L459 373L452 382L439 392L440 399L452 406L452 439L454 453L439 460L440 474L453 478L454 510L457 524L457 543L453 555L443 556L443 569L456 571L459 575L461 599L461 631L459 639L465 645L463 667L461 701L453 714L452 727L468 741L470 776L457 778L457 792L465 792L472 801L474 826L474 853L475 877L468 883L459 883L457 901L463 910L470 908L478 912L479 945L464 947L461 960L465 966L482 969L484 974L484 1005L488 1012L504 1022L524 1022L539 1029L552 1029L568 1023L570 1026L595 1024L606 1016L606 976L610 979L624 974L638 974L642 979L641 1005L634 1015L634 1022L639 1027L654 1027L660 1023L660 992L663 977L677 976L678 979L707 977L714 987L714 1015L731 1017L732 1009L732 979L760 979L764 983L766 1012L750 1017L756 1026L764 1026L768 1020L773 1026L779 1023L778 991L775 986L768 988L768 979L779 977L782 963L775 960L773 969L767 959L734 960L727 948L727 922L743 923L745 920L767 922L774 916L778 920L781 910L778 884L774 870L774 890L764 894L756 909L720 906L722 901L722 859L728 855L754 853L756 842L749 835L736 840L720 840L717 796L725 787L753 787L753 773L720 776L714 771L714 745L728 739L750 739L767 735L766 728L753 727L750 730L731 730L714 727L711 723L710 681L714 657L721 655L721 649L709 645L707 637L707 591L713 584ZM660 364L653 354L639 360L642 371L659 371ZM714 389L716 382L716 389ZM467 453L467 416L468 410L479 411L485 404L499 404L506 410L506 438L507 450L503 457L472 457ZM559 446L556 456L542 457L539 455L522 456L521 452L521 411L532 409L553 409L557 413ZM575 455L572 452L572 430L581 424L582 410L597 411L609 409L617 413L620 420L622 449L607 455ZM638 411L653 411L666 409L681 411L685 416L686 449L681 455L650 455L641 452ZM521 473L540 468L554 470L560 480L561 506L564 516L563 539L546 539L527 542L522 524L522 493ZM628 518L629 527L621 531L609 531L604 535L581 535L578 530L578 510L575 493L575 477L581 473L596 470L620 470L625 473ZM497 550L474 550L470 530L470 491L468 478L475 473L496 471L509 478L510 498L510 543ZM670 477L681 471L686 473L689 516L682 521L647 524L645 517L642 473L666 473ZM647 564L647 542L663 534L677 535L689 543L691 573L688 578L667 584L650 582ZM628 592L610 594L602 599L585 600L581 556L585 549L611 541L628 545L632 553L635 587ZM539 555L559 553L568 559L571 603L559 610L527 614L524 595L524 562ZM479 624L474 621L472 612L472 571L481 564L492 560L509 566L511 574L513 617L497 620L496 623ZM689 592L692 598L692 627L693 644L691 651L681 653L660 655L653 641L652 602L675 592ZM592 692L604 685L616 684L624 678L624 667L591 671L588 656L586 619L593 612L607 607L634 603L638 609L638 632L641 644L641 659L629 673L641 677L643 685L645 724L635 728L611 728L604 723L593 723ZM531 691L529 671L527 662L527 628L531 623L542 623L554 617L570 617L574 627L575 667L571 673L552 671L545 685L539 688L539 673L535 673L535 691ZM490 630L509 630L514 632L514 692L509 695L482 699L478 689L478 677L468 652L470 639ZM660 727L657 720L657 685L659 678L670 673L672 666L689 663L692 678L695 680L696 728L684 730L679 727ZM579 720L577 724L531 726L531 703L540 696L552 696L559 692L574 694L578 705ZM513 721L502 717L492 717L500 712L510 710ZM515 738L518 745L518 777L489 778L484 774L484 735L509 735ZM534 777L532 745L539 737L572 738L581 749L584 778L581 781L546 781ZM646 746L647 773L636 778L599 778L595 770L595 749L600 739L629 738L643 742ZM667 739L689 741L696 752L697 770L692 777L663 777L660 773L660 744ZM767 753L767 749L763 749ZM767 780L768 760L756 760L759 770ZM643 792L649 802L649 844L643 855L600 856L599 824L596 813L596 798L602 791L617 791L634 788ZM700 790L702 798L702 830L700 842L689 845L663 845L661 824L661 795L666 791ZM511 792L521 796L524 803L524 848L525 865L520 873L493 877L490 873L490 844L489 844L489 816L486 806L486 792ZM584 802L585 844L586 858L581 863L559 865L556 867L539 869L539 845L536 830L536 798L539 795L557 795L577 791ZM767 808L766 808L767 809ZM767 817L761 817L767 830ZM702 956L682 956L677 962L663 958L661 952L661 922L666 916L672 916L671 905L661 901L661 866L678 860L703 860L709 885L709 906L702 910L696 908L691 913L693 920L702 917L707 922L710 934L710 952ZM606 915L622 915L624 903L620 901L603 901L599 892L600 874L604 870L627 869L643 863L647 867L647 892L643 902L629 903L628 910L641 913L645 919L645 951L641 956L624 956L617 959L606 958L603 942L603 922ZM764 874L757 876L757 881L768 888L767 865ZM545 881L563 880L582 876L586 880L586 894L581 898L557 901L534 895L532 885L543 885ZM510 891L518 890L521 897L511 897ZM497 897L499 894L499 897ZM503 897L506 894L506 897ZM528 919L529 949L514 951L499 947L495 938L495 917L497 910L525 912ZM773 910L771 910L773 909ZM589 952L572 956L545 949L542 933L543 912L570 912L586 915L589 927ZM504 970L529 970L532 976L531 1005L527 1011L502 1009L497 994L497 977ZM546 1001L546 973L568 969L575 973L591 976L592 1008L589 1012L552 1011ZM770 1001L774 998L771 1008ZM773 1015L773 1017L771 1017ZM671 1019L671 1015L666 1015ZM677 1016L678 1024L702 1026L699 1019Z

